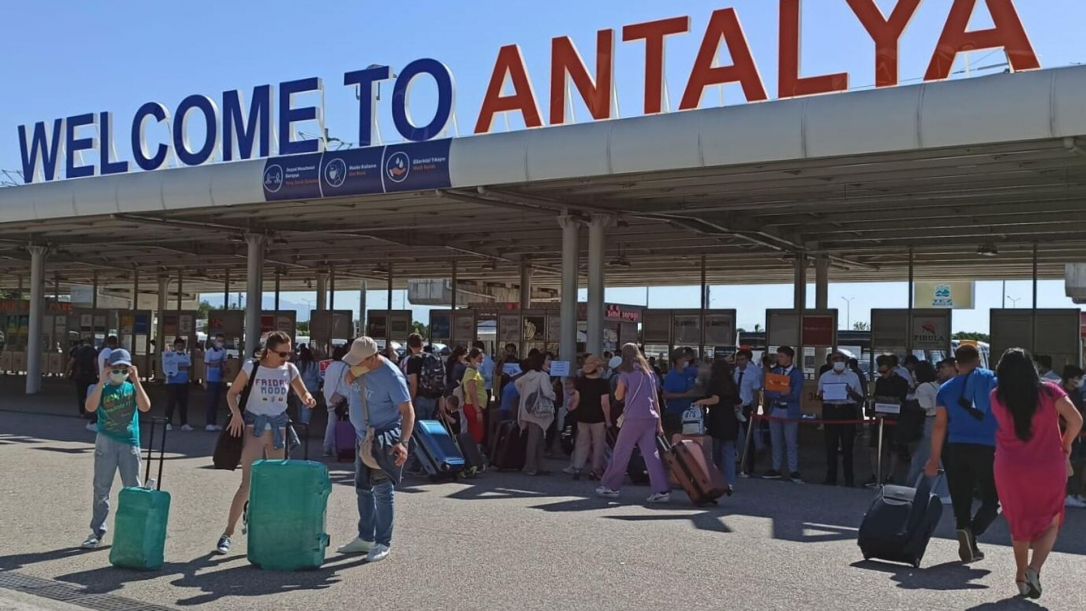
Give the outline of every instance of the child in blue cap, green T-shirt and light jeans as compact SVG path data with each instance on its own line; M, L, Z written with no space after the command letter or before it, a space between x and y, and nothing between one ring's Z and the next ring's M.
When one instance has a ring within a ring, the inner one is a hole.
M119 471L125 487L140 486L139 413L151 410L151 399L139 381L128 351L110 353L98 384L90 391L87 411L98 415L98 437L94 440L94 502L90 520L90 536L84 549L97 548L105 536L105 519L110 513L110 488Z

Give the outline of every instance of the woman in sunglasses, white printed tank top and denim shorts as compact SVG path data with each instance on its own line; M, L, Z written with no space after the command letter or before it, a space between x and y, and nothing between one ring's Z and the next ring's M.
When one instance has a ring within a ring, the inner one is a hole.
M268 335L254 360L245 361L226 394L226 405L230 407L230 422L227 431L235 437L244 435L241 448L241 484L230 504L226 530L215 545L215 552L230 551L233 529L238 524L245 502L249 500L249 482L253 462L262 458L283 458L286 456L288 428L287 396L291 389L302 397L306 408L313 409L317 402L305 390L298 368L290 362L290 335L276 331ZM250 386L249 379L253 379ZM249 395L241 404L241 394L249 386ZM242 412L244 410L244 412ZM296 443L296 441L295 441Z

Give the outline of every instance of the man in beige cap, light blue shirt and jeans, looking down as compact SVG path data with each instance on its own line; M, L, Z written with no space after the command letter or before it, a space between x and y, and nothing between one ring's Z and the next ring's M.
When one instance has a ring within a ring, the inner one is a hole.
M339 553L366 553L368 562L388 558L392 546L395 486L407 462L415 429L411 390L400 368L377 352L377 342L358 338L343 357L351 369L345 382L351 423L358 436L354 489L358 500L358 536Z

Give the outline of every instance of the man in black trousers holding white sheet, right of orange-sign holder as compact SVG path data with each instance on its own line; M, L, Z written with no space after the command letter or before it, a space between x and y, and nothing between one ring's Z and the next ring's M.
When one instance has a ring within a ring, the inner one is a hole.
M845 487L856 484L853 466L853 445L856 424L831 424L835 420L856 420L856 406L863 400L860 378L848 369L848 357L835 352L830 355L831 369L818 379L818 396L822 399L822 419L825 424L826 471L823 484L837 485L837 448L844 453Z

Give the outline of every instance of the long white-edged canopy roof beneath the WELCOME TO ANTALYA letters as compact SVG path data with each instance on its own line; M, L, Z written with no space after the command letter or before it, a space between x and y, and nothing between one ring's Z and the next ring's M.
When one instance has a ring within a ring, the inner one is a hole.
M607 284L1062 277L1086 260L1086 67L455 138L451 188L266 202L265 161L0 189L0 257L53 246L48 280L240 288L245 232L267 233L283 290L333 266L339 289L408 278L559 285L564 214L614 215ZM581 239L582 273L588 240ZM997 256L990 256L997 251ZM51 290L51 287L50 287ZM237 289L236 289L237 290Z

